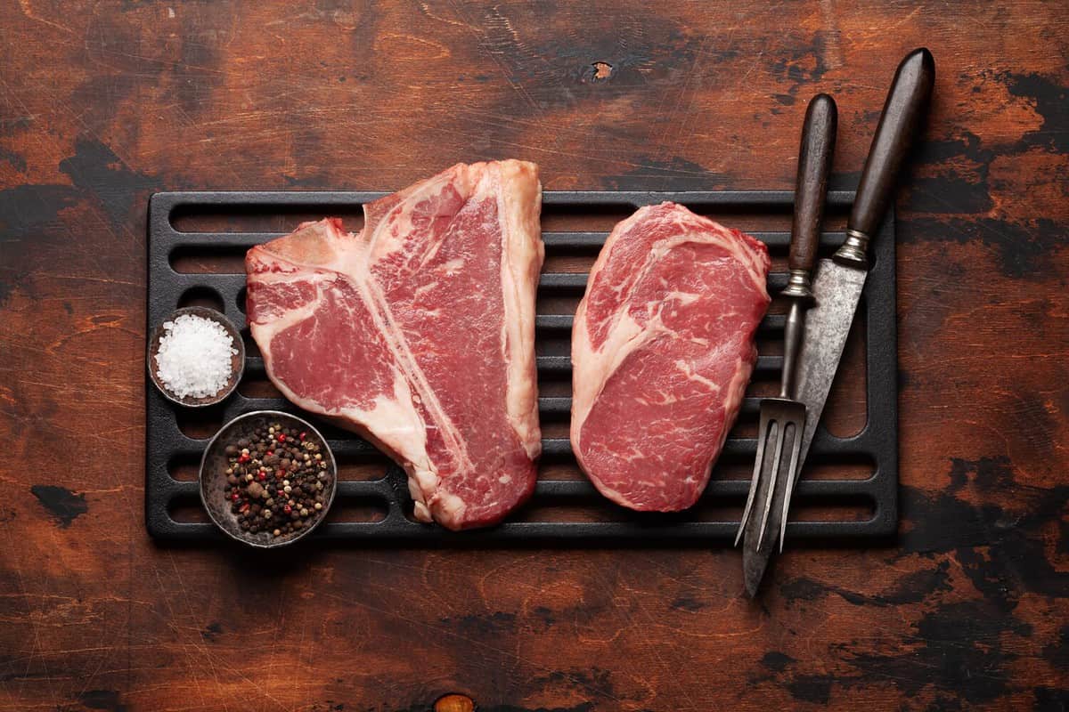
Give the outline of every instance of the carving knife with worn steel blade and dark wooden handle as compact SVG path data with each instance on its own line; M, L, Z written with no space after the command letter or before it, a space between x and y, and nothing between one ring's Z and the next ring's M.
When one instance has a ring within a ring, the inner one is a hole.
M913 50L898 65L862 171L847 222L847 239L831 259L821 259L817 265L812 283L814 304L806 314L805 335L799 354L795 397L805 405L806 422L795 473L801 471L812 444L861 300L868 273L866 252L869 239L883 221L899 171L920 131L934 80L935 61L925 48ZM796 476L787 486L783 519L772 524L779 525L780 545L787 527L787 505L795 484ZM774 515L777 510L778 507L774 508ZM771 555L769 548L744 560L747 588L752 579L760 581Z

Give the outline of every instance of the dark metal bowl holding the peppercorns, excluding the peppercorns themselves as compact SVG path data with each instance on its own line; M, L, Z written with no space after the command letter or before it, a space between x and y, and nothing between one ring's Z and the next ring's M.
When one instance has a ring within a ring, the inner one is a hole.
M228 465L226 444L231 440L242 438L245 430L254 430L259 427L260 423L265 425L267 423L281 423L284 427L297 428L314 436L323 444L321 453L323 459L327 462L326 472L330 474L330 481L324 488L326 496L319 518L311 526L281 537L273 537L270 532L251 534L243 529L237 522L237 517L230 510L230 504L223 495L223 490L227 487ZM284 547L314 532L323 523L323 520L327 518L327 512L330 511L330 505L334 504L335 492L337 491L338 462L335 460L334 453L330 450L330 445L327 444L326 439L319 430L312 427L311 423L281 411L257 410L251 413L238 415L220 428L219 432L208 442L207 447L204 449L204 455L201 457L200 495L201 503L204 505L204 509L207 510L208 517L230 538L258 549Z

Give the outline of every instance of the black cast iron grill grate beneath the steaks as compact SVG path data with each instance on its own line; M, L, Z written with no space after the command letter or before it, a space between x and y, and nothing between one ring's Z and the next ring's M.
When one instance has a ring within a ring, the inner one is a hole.
M148 327L153 328L180 305L200 300L214 303L238 326L245 325L245 274L241 257L251 246L273 239L284 232L183 232L174 226L183 215L266 216L275 218L279 231L296 227L298 219L312 219L336 213L359 212L362 203L386 193L370 192L170 192L152 196L149 205L149 275ZM777 192L645 192L645 191L547 191L543 194L543 216L563 213L573 217L604 216L615 210L624 217L642 205L672 201L696 212L709 215L725 224L734 225L733 216L765 216L777 231L747 230L763 240L775 259L786 255L790 235L786 232L792 210L792 193ZM845 215L853 200L852 192L828 194L827 213ZM297 218L296 216L301 216ZM760 219L760 218L759 218ZM232 222L232 221L231 221ZM604 223L605 220L603 219ZM222 221L223 225L230 224ZM352 226L351 226L352 228ZM672 515L639 513L617 507L601 497L577 472L567 426L571 400L571 363L568 342L571 314L543 305L568 302L573 304L583 295L585 273L553 271L559 258L584 256L589 262L608 235L608 227L583 232L548 232L543 227L547 269L539 282L539 314L537 316L537 350L540 397L543 422L543 458L539 481L531 502L505 523L489 529L451 533L438 526L421 524L412 519L412 501L404 472L390 463L371 445L357 436L322 423L314 415L303 413L317 426L339 461L344 464L371 466L377 464L383 475L373 479L339 477L339 488L328 521L315 533L315 538L410 542L414 544L464 544L522 541L573 541L603 543L710 543L728 542L739 526L742 504L748 488L756 440L746 431L753 423L759 398L747 391L740 422L729 433L721 461L702 500L688 511ZM843 233L827 232L821 238L821 250L830 253L843 239ZM176 271L172 260L179 255L227 255L221 271L211 266L197 273ZM799 482L792 509L801 512L802 521L787 525L791 541L814 539L872 539L894 534L897 526L897 383L896 383L896 319L895 319L895 223L887 217L880 234L872 240L872 268L858 307L857 321L863 325L859 339L866 345L861 359L866 378L864 385L865 425L849 437L831 434L822 425L817 430L803 479ZM555 260L555 258L558 258ZM769 276L769 290L775 296L786 284L786 273L774 271ZM775 306L775 303L774 303ZM543 313L545 312L545 313ZM552 313L551 313L552 312ZM768 347L781 341L784 317L771 313L758 334L762 354L755 369L755 381L777 382L781 365L777 350ZM244 330L248 334L248 329ZM854 338L855 334L852 336ZM246 363L245 380L266 381L263 360L252 347ZM848 351L850 347L848 345ZM772 354L770 354L770 351ZM545 383L553 383L546 389ZM243 381L244 384L244 381ZM836 389L833 386L835 398ZM222 423L251 410L275 409L301 413L277 393L268 397L245 395L243 389L219 407L183 411L159 395L148 382L145 389L145 522L149 533L164 541L221 541L221 536L206 521L197 517L196 464L207 438ZM247 390L246 390L247 391ZM768 395L762 393L761 395ZM847 394L847 399L862 394ZM199 422L202 421L202 422ZM192 426L192 427L190 427ZM753 428L750 428L752 430ZM195 434L187 434L195 432ZM862 463L870 473L856 477L810 476L821 466L836 463ZM733 468L729 468L733 464ZM570 478L554 473L572 471ZM728 475L724 471L731 470ZM341 469L344 471L344 466ZM175 477L174 473L185 476ZM192 473L192 476L190 476ZM821 513L807 517L806 510ZM577 511L562 518L561 512ZM858 513L861 511L861 513ZM191 515L191 516L186 516Z

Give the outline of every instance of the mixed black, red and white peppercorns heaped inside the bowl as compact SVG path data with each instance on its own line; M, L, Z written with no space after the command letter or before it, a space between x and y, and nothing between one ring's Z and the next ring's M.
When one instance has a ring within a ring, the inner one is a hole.
M311 433L261 423L228 443L227 487L238 526L284 537L312 526L329 502L330 472Z

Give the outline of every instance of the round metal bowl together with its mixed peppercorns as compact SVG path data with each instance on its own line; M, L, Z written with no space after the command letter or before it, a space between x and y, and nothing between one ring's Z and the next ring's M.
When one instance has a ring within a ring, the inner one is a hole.
M227 423L201 459L200 495L230 537L263 549L293 543L326 518L338 468L310 423L254 411Z

